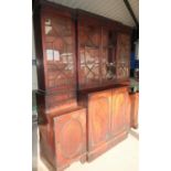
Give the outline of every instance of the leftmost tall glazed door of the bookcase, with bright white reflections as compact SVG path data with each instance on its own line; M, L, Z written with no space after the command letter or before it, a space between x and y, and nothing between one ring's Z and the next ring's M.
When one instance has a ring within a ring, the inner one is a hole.
M72 15L53 9L42 11L45 89L58 101L75 97L75 25Z

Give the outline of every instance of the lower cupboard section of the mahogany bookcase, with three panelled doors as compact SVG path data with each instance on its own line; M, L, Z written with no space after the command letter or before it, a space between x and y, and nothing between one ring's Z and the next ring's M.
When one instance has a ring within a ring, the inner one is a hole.
M127 87L86 93L83 105L47 115L40 126L41 157L50 170L62 171L74 161L92 161L124 140L129 130Z

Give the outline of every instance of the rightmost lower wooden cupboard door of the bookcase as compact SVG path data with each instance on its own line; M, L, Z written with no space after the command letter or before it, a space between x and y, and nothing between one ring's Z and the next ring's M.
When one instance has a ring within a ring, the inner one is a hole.
M117 136L127 128L127 90L113 90L111 135Z

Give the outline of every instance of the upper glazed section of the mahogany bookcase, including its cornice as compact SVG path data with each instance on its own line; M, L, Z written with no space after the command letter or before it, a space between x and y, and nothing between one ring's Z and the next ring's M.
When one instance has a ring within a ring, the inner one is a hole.
M33 13L40 90L63 100L128 81L131 28L46 1Z

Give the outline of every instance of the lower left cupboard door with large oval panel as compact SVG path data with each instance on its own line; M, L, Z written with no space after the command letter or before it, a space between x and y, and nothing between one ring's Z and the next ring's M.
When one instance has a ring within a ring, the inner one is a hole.
M54 118L56 167L65 168L86 152L85 109Z

